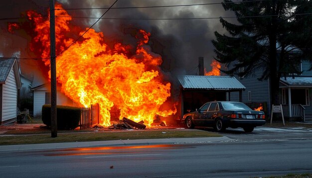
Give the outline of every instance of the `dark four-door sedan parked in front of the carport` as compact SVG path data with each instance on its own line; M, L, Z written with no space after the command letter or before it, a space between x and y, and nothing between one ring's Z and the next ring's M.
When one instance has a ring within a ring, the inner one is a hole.
M242 102L211 101L205 103L198 111L183 115L182 122L187 128L209 126L216 131L227 127L242 127L245 132L252 132L255 127L266 123L263 111L255 111Z

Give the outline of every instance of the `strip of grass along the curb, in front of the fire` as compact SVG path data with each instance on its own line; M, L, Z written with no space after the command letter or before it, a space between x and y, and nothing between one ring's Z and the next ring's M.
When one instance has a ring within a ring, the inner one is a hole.
M50 134L0 136L0 145L83 142L105 140L135 140L156 138L195 138L195 137L221 137L217 133L202 130L153 130L153 131L117 131L117 132L72 132L59 133L56 138Z

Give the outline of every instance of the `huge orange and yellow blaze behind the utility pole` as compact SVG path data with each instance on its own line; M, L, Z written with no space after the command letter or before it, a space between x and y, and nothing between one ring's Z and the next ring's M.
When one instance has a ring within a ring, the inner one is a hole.
M55 4L55 8L62 8ZM35 42L44 47L42 58L49 58L49 21L34 11L28 16L35 23ZM56 16L69 16L65 10L55 11ZM71 17L55 19L57 51L66 49L74 40L66 37ZM85 29L87 30L87 29ZM82 35L81 31L79 35ZM125 54L129 46L116 43L115 49L105 44L102 32L90 29L82 40L72 44L56 58L57 81L61 91L85 107L99 103L101 125L109 126L110 109L115 105L120 109L120 119L127 117L136 122L144 120L151 126L156 114L167 117L173 110L160 110L160 106L170 96L170 83L163 82L159 65L161 57L151 52L147 46L150 33L139 30L135 55ZM36 50L32 47L32 50ZM57 52L56 52L57 53ZM50 61L45 60L49 66ZM49 72L50 76L50 72Z

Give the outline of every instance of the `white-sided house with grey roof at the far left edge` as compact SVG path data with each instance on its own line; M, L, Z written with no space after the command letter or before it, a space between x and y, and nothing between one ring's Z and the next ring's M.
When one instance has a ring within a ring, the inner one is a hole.
M16 59L0 59L0 124L11 123L17 116L17 96L21 82Z

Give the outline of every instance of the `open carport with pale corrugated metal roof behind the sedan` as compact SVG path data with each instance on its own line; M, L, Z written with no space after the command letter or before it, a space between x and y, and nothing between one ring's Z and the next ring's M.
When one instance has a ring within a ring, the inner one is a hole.
M239 92L246 88L230 76L178 76L180 83L181 117L184 113L195 111L208 101L231 100L231 92Z

